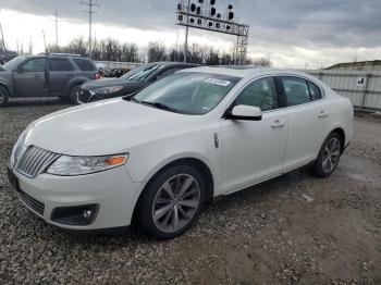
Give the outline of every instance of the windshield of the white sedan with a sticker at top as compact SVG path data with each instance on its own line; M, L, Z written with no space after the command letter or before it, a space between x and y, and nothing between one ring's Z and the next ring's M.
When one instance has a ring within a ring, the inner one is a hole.
M133 101L200 115L214 109L239 79L208 73L177 73L143 89L134 96Z

